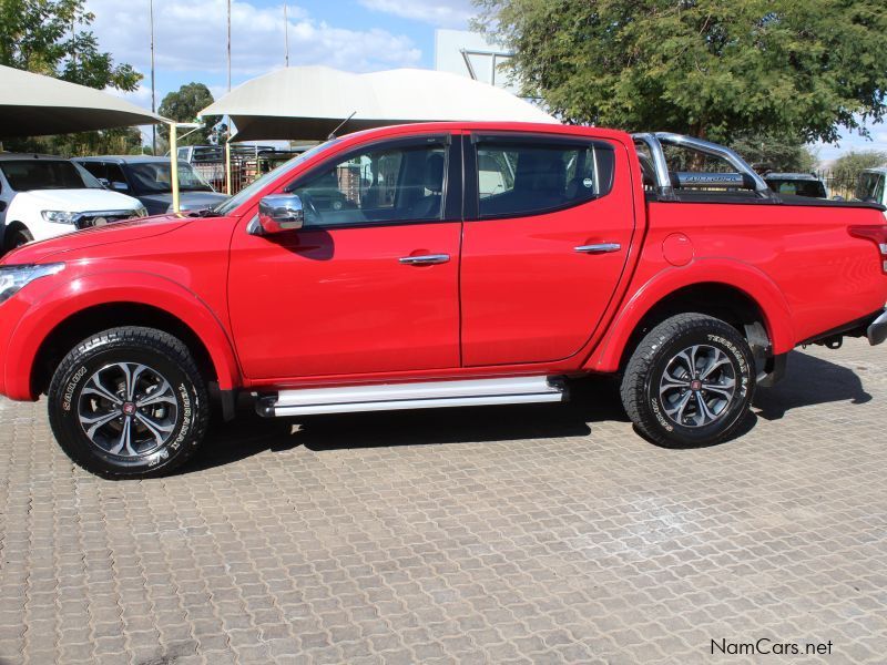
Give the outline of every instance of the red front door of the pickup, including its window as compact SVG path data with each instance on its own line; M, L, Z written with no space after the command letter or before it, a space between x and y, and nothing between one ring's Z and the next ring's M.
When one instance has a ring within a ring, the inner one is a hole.
M448 135L351 149L285 187L302 229L235 232L228 298L249 379L459 366L460 153Z

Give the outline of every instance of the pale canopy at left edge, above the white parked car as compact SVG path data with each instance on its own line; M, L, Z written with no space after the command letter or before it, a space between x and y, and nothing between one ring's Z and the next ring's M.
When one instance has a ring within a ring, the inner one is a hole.
M0 65L0 139L167 122L101 90Z

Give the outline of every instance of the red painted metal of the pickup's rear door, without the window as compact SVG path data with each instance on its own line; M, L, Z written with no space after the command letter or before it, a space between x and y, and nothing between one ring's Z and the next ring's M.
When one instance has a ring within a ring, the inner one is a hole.
M631 173L625 146L615 168ZM634 183L553 213L466 222L462 243L462 359L470 367L550 362L578 354L603 317L634 235ZM612 254L574 247L616 243Z

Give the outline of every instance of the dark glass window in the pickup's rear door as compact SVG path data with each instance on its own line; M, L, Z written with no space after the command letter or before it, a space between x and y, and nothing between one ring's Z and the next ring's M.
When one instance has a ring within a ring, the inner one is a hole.
M612 146L601 142L479 141L479 217L536 215L605 196L614 161Z

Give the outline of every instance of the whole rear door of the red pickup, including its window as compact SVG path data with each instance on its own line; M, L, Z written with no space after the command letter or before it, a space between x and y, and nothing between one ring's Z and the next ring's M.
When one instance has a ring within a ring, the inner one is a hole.
M462 362L569 358L625 267L634 231L625 150L526 134L476 134L465 150Z

